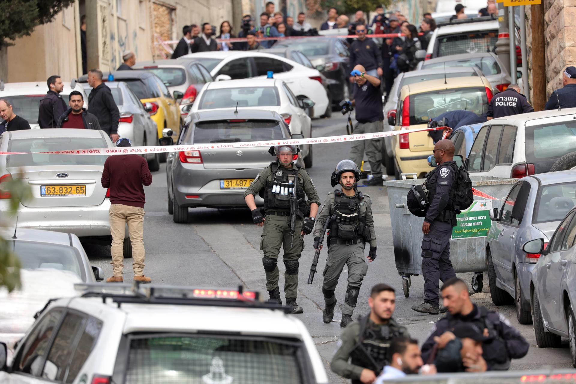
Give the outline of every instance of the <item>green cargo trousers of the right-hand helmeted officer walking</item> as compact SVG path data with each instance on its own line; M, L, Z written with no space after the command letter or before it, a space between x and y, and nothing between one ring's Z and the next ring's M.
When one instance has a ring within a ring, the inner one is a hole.
M328 248L328 257L326 258L326 267L324 267L324 283L322 284L323 291L334 291L338 285L338 278L344 264L348 266L348 290L353 288L355 290L360 290L362 286L362 280L368 272L368 264L364 260L364 245L352 244L331 244ZM344 309L342 314L352 315L354 308L356 307L355 298L345 298L344 299ZM336 302L336 296L332 295L330 299L324 300L327 305Z

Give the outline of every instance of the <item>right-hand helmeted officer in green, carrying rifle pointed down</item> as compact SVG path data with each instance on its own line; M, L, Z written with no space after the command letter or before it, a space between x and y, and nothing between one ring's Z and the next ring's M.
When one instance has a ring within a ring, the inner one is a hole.
M368 265L364 261L364 247L370 243L368 263L376 258L376 231L372 217L370 196L363 195L356 188L360 179L360 170L351 160L342 160L332 173L331 184L342 188L328 193L314 226L314 249L319 247L320 236L327 219L329 223L328 258L324 268L325 308L322 320L328 324L334 317L336 297L334 291L344 264L348 266L348 288L344 296L341 327L352 322L352 313L356 307L362 279L366 276Z

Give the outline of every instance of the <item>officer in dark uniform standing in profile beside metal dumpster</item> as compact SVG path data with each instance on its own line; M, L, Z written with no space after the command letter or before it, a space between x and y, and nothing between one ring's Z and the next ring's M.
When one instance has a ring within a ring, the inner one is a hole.
M438 314L438 279L446 282L456 277L450 261L450 237L456 226L453 193L456 188L457 165L454 162L454 144L439 140L434 146L434 159L438 166L426 176L426 189L430 206L422 225L422 275L424 276L424 302L412 306L420 313Z

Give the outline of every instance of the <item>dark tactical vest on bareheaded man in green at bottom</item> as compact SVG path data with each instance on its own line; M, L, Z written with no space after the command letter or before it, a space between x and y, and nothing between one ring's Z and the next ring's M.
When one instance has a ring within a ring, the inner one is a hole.
M354 346L350 357L352 364L372 370L378 376L392 358L390 355L392 340L404 336L404 329L385 324L380 326L380 332L377 332L368 326L369 318L370 316L366 315L358 319L360 324L358 343ZM360 382L352 381L353 384Z

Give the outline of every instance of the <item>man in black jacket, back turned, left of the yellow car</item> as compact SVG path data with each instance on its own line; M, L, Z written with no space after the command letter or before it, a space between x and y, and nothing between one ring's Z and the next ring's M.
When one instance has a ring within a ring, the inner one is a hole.
M104 85L102 78L101 70L88 71L88 84L93 88L88 96L88 112L97 117L100 129L110 135L113 142L116 142L120 138L118 135L120 112L111 90Z

